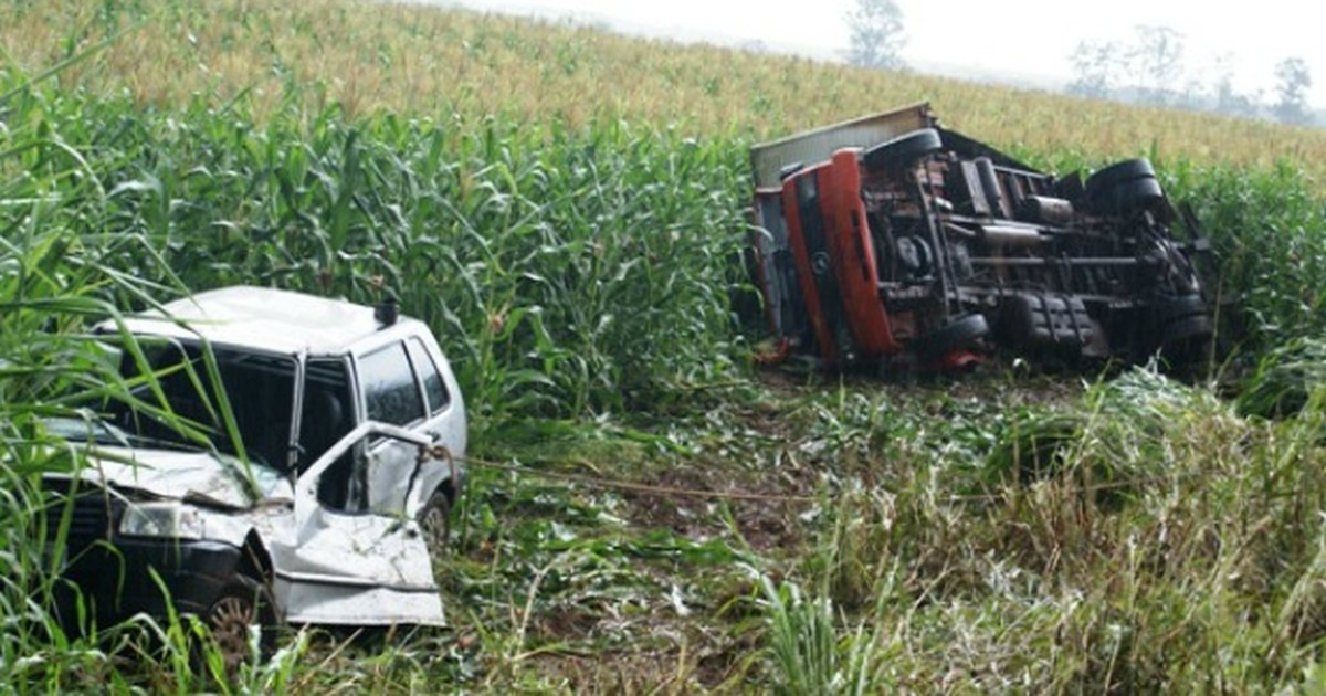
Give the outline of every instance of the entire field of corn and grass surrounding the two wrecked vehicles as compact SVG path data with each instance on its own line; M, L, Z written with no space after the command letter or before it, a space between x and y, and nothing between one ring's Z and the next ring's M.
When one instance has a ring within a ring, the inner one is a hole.
M1321 689L1321 133L390 4L0 19L9 688ZM752 371L747 148L919 99L1065 171L1152 156L1220 253L1219 386ZM229 683L187 616L66 635L44 419L127 391L93 321L228 284L396 297L481 456L764 497L476 469L450 630L292 630Z

